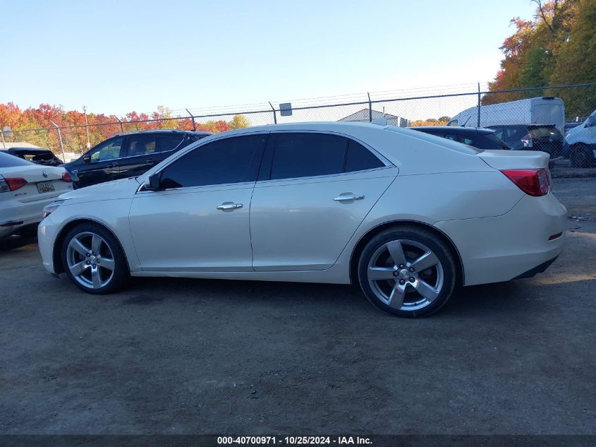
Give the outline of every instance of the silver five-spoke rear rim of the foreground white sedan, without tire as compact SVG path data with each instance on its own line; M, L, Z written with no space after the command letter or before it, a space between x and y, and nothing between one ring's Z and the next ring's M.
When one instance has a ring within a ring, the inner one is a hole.
M399 239L379 246L372 254L367 280L382 303L401 311L416 311L437 299L444 273L431 249L420 242Z

